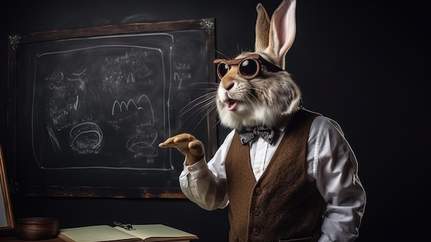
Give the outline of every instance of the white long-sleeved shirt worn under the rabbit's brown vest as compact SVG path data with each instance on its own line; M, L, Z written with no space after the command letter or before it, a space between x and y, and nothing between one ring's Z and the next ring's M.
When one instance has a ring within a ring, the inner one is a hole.
M277 149L286 127L274 145L255 137L250 142L251 167L256 180L264 172ZM225 208L227 195L226 154L235 130L224 139L213 158L185 165L180 174L180 188L194 203L205 210ZM322 236L319 242L355 241L364 215L366 193L357 174L357 160L338 123L318 116L308 134L307 171L309 181L315 181L317 190L326 201Z

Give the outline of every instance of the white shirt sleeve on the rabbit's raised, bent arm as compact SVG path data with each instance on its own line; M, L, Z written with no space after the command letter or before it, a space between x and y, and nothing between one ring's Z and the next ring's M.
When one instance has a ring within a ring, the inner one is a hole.
M233 134L234 130L227 135L208 163L205 158L193 165L185 165L184 162L179 177L180 188L190 201L205 210L225 208L229 204L224 161Z

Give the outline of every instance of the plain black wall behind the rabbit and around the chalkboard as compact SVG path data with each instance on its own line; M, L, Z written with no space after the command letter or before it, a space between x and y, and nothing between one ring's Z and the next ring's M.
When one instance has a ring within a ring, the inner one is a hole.
M11 1L3 6L0 48L0 143L6 119L7 37L107 24L215 18L216 50L253 49L259 1ZM297 36L286 70L306 108L335 119L359 162L368 203L357 241L418 241L430 228L430 21L425 2L299 1ZM279 1L262 1L272 14ZM219 142L227 130L219 129ZM7 152L6 152L7 153ZM11 164L6 158L7 167ZM164 223L227 241L227 210L208 212L187 199L17 196L16 219L52 216L62 228Z

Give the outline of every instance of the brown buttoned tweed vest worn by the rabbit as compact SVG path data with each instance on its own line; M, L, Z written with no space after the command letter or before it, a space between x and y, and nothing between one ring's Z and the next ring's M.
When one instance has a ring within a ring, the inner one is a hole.
M230 242L319 239L324 200L306 170L308 131L317 115L308 110L294 115L258 181L249 145L235 134L226 158Z

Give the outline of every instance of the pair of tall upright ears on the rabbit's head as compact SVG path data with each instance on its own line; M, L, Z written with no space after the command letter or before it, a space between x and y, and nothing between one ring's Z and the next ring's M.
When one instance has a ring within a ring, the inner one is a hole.
M269 54L284 68L284 58L296 34L296 1L283 0L274 11L271 21L262 4L257 5L255 51Z

